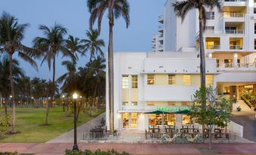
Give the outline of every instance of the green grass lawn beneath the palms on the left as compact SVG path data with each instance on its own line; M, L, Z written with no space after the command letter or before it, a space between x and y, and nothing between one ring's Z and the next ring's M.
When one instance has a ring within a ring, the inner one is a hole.
M17 132L15 135L5 135L0 142L45 142L55 138L73 128L73 117L66 116L63 108L50 108L48 123L45 123L46 108L17 108ZM99 109L92 112L92 117L80 112L78 126L91 120L105 110ZM8 109L11 114L11 109ZM2 111L3 113L3 111Z

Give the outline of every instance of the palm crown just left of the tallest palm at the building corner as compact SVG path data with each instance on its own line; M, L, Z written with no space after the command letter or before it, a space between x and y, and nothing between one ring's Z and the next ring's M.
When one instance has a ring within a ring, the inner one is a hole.
M101 47L105 47L105 43L103 39L99 39L99 32L97 29L90 29L90 31L86 31L87 39L82 39L81 43L83 44L83 48L85 49L82 54L90 53L89 62L91 63L92 58L95 58L96 55L103 56L103 51Z

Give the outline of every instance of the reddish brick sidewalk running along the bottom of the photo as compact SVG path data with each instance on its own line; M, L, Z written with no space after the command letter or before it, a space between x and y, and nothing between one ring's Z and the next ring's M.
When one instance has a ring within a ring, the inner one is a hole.
M256 154L255 143L240 144L213 144L215 153L225 154ZM0 143L1 151L17 151L19 153L35 154L63 154L64 151L72 149L72 143ZM131 154L202 154L202 148L207 149L208 144L100 144L79 143L81 150L108 150L116 149Z

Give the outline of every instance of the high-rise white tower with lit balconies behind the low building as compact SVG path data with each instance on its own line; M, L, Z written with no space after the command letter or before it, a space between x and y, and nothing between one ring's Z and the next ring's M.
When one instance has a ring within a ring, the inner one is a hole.
M171 7L174 2L165 3L159 43L163 51L191 50L199 56L198 11L190 11L182 22ZM217 71L222 73L217 76L217 88L239 99L245 87L256 87L256 1L223 0L221 10L208 9L206 19L205 56L216 59Z

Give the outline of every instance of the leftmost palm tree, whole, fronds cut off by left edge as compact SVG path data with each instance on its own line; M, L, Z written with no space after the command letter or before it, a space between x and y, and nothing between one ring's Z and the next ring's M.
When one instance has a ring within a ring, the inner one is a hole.
M37 65L32 59L33 56L39 54L37 50L26 47L21 43L23 40L25 29L29 24L19 24L17 18L4 12L0 18L0 46L3 53L8 53L10 61L10 84L11 84L11 95L13 96L12 101L12 129L11 132L16 132L15 121L15 96L14 96L14 79L13 79L13 59L14 53L18 53L18 56L29 62L32 67L38 70Z

